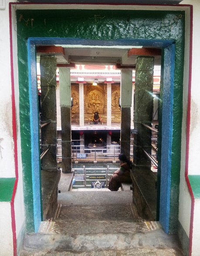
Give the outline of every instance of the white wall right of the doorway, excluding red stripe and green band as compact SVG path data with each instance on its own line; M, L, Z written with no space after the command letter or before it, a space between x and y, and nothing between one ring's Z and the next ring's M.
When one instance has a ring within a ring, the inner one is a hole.
M200 86L199 86L199 70L200 70L200 1L199 0L183 0L181 4L193 5L193 44L192 44L192 80L191 80L191 110L190 110L190 141L189 141L189 159L188 174L200 175L199 154L200 154ZM189 65L189 28L190 21L186 20L186 50L185 50L185 71ZM182 150L181 150L181 175L180 175L180 205L179 205L179 221L190 235L190 216L191 216L191 196L185 180L185 156L186 156L186 117L187 117L187 87L188 74L184 72L184 90L183 90L183 125L182 125ZM200 202L195 201L194 220L193 220L193 239L192 239L192 256L199 256L200 252Z

